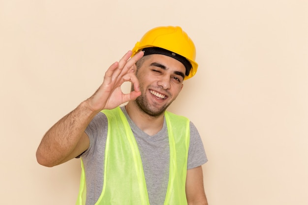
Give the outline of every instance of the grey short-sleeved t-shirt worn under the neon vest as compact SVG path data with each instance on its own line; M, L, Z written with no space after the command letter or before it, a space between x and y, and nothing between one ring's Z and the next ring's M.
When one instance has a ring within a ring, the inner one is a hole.
M163 205L169 178L169 142L166 122L164 121L162 129L157 134L150 136L137 127L127 115L124 107L121 109L138 144L150 204ZM86 205L94 205L102 191L107 130L107 117L103 113L99 113L85 131L90 138L90 147L81 155L86 173ZM187 170L198 167L207 161L200 135L193 123L190 122Z

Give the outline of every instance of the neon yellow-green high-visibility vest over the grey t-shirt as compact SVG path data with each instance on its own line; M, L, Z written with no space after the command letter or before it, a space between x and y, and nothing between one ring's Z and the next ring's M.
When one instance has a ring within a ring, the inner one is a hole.
M104 183L95 205L150 205L138 145L120 107L102 111L108 118ZM169 136L169 181L164 205L187 205L185 182L189 146L189 120L164 114ZM86 204L85 169L76 205Z

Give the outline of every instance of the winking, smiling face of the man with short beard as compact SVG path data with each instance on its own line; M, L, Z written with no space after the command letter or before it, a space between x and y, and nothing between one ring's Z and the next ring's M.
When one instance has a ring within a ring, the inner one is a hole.
M135 102L150 116L160 116L183 88L185 66L164 55L149 55L136 69L141 96Z

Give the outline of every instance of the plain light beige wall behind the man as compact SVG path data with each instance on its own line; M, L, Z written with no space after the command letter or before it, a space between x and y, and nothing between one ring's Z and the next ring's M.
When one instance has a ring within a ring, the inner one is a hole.
M38 165L42 136L167 25L197 47L170 111L202 136L209 204L308 204L307 0L0 0L0 204L75 203L79 160Z

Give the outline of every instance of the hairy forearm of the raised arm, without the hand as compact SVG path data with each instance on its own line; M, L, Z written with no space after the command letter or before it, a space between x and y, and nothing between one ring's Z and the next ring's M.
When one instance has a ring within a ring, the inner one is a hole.
M97 112L89 108L88 101L84 101L75 110L62 117L47 131L38 146L36 151L38 163L47 167L61 164L74 151L96 114Z

